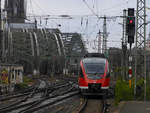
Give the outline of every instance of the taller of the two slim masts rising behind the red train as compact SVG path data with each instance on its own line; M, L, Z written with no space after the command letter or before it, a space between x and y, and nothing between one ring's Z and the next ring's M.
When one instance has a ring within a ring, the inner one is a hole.
M102 53L105 53L106 51L107 51L107 23L106 23L106 16L104 16Z

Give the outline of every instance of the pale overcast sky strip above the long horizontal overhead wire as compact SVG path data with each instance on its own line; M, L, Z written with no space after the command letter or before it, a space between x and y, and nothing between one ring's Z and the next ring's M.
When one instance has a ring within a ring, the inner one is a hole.
M34 12L43 14L70 14L70 15L84 15L91 14L83 0L27 0L29 4L32 3ZM136 0L85 0L89 6L97 11L100 15L104 14L119 14L122 9L127 7L135 7ZM148 0L147 0L148 1ZM31 5L30 5L31 6ZM98 7L98 8L97 8ZM30 7L31 8L31 7ZM39 10L39 8L42 9Z

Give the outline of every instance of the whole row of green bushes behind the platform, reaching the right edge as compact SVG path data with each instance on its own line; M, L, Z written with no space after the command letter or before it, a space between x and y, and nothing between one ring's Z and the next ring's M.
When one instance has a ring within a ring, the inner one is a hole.
M147 80L146 87L146 99L150 100L150 83ZM115 87L115 103L118 104L120 101L129 101L134 99L134 79L132 79L132 87L129 88L128 81L123 81L121 79L117 80ZM136 99L144 100L144 78L137 80L136 83Z

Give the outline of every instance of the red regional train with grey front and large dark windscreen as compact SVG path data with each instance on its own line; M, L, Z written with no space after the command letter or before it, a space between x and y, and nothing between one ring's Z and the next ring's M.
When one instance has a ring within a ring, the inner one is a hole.
M85 55L80 61L78 84L83 95L103 95L108 92L109 64L103 54L88 53Z

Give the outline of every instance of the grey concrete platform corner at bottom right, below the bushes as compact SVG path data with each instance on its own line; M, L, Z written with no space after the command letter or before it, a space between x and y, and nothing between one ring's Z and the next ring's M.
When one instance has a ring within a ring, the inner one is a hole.
M114 113L150 113L150 102L125 102L120 110Z

